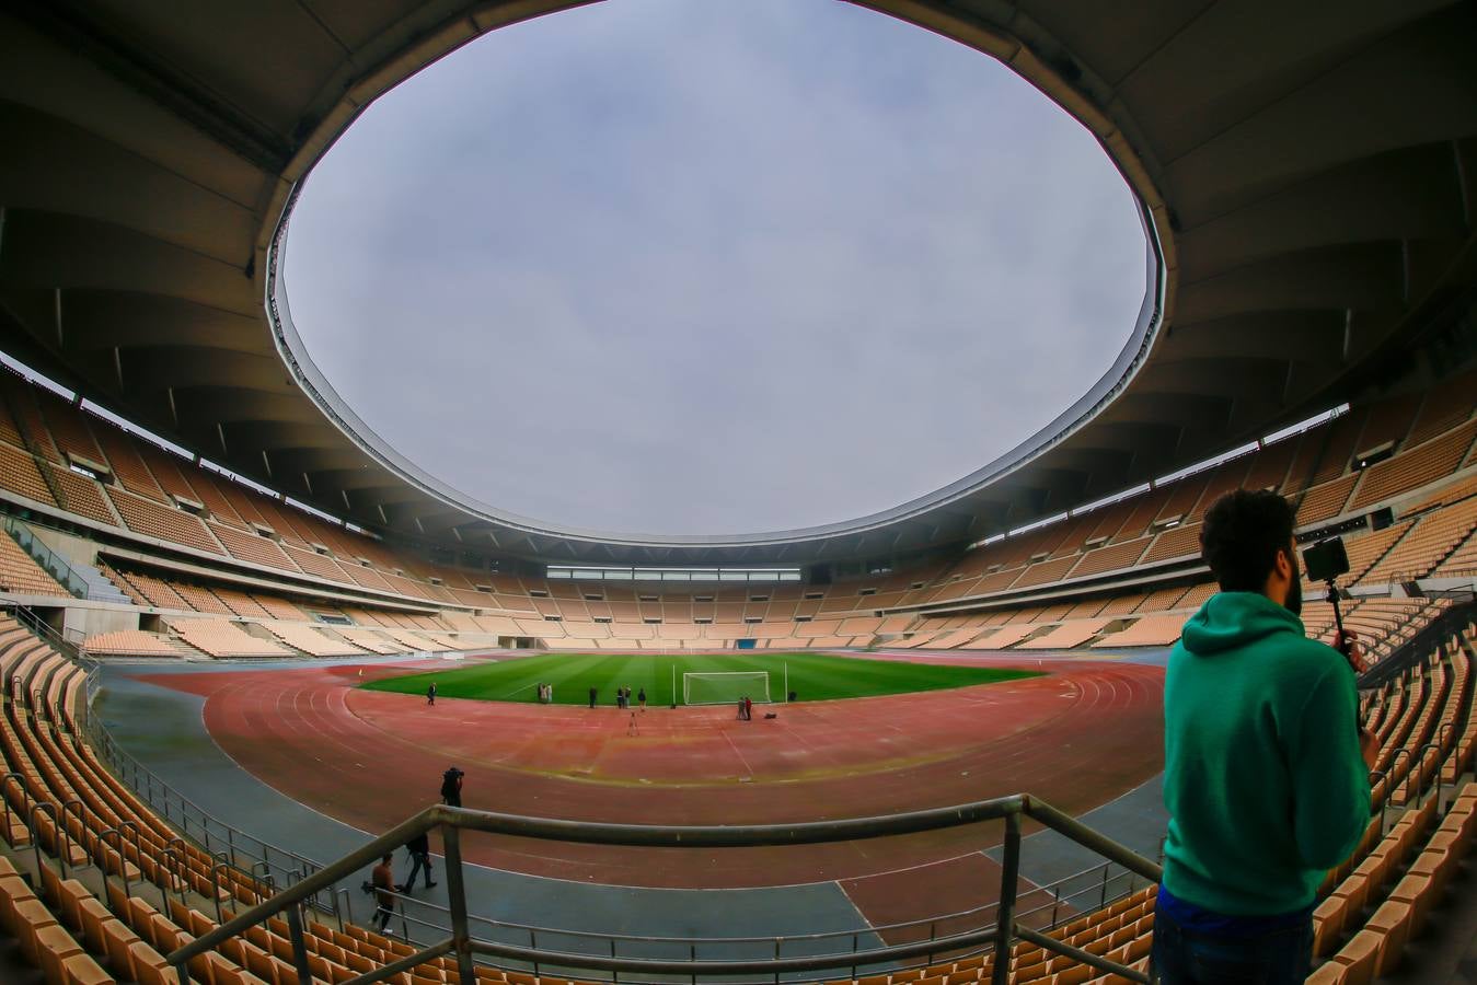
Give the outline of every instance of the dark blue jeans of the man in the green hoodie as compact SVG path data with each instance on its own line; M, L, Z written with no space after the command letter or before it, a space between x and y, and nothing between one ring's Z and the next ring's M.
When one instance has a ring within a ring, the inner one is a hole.
M1301 985L1313 964L1313 920L1251 938L1185 930L1154 914L1159 985Z

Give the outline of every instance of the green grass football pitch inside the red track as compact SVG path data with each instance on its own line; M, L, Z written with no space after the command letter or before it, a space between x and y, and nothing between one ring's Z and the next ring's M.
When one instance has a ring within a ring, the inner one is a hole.
M660 707L672 703L674 669L679 703L684 672L768 670L770 697L783 701L786 665L789 665L790 690L802 701L936 691L1040 676L1035 670L942 666L901 660L854 660L818 653L765 651L703 656L546 653L499 663L409 673L372 681L362 687L374 691L425 694L425 687L436 681L437 697L532 703L538 684L544 682L554 685L555 704L588 704L592 687L600 690L601 704L614 704L616 688L629 687L632 703L635 703L635 696L641 688L645 688L647 703ZM755 694L750 697L759 699Z

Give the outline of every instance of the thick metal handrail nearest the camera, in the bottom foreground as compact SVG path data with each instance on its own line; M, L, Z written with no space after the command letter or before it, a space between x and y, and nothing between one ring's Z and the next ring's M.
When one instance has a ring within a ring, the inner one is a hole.
M458 958L458 973L462 985L474 985L476 978L471 970L473 953L496 954L520 960L536 960L542 964L569 964L573 967L609 969L611 972L668 972L675 970L684 975L744 975L762 972L778 975L787 970L818 970L826 967L843 967L849 964L870 964L874 961L899 960L914 954L929 954L935 951L956 950L969 945L994 944L998 954L1009 954L1010 944L1018 936L1015 926L1015 904L1018 896L1018 874L1021 861L1021 818L1022 815L1040 821L1046 827L1072 839L1074 842L1097 852L1112 862L1123 865L1130 873L1137 873L1146 880L1158 882L1159 865L1137 855L1131 849L1081 824L1075 818L1058 811L1052 805L1029 794L1013 794L993 800L981 800L950 808L929 811L911 811L888 817L851 818L842 821L809 821L801 824L768 824L768 826L700 826L700 827L660 827L637 824L586 824L578 821L563 821L549 818L529 818L510 814L490 814L471 811L468 808L450 808L446 805L430 806L415 817L403 821L390 831L374 839L368 845L340 858L338 861L319 868L316 873L292 886L275 893L272 898L238 913L235 917L220 924L214 930L177 948L168 955L168 963L174 966L180 985L189 984L189 961L196 954L213 950L225 941L245 932L248 927L264 923L267 919L288 908L295 908L316 896L321 890L332 888L340 880L362 870L365 865L378 861L383 855L391 854L418 834L439 828L445 843L445 864L448 895L450 898L450 941L433 944L437 954L455 953ZM598 957L589 954L569 954L563 951L548 951L533 947L489 944L473 939L470 933L470 917L467 914L465 890L462 886L461 831L484 831L490 834L505 834L515 837L532 837L541 840L578 842L586 845L620 845L645 848L755 848L775 845L817 845L826 842L861 840L886 837L916 831L929 831L963 824L978 824L981 821L1003 820L1006 823L1004 861L1001 864L1000 898L997 902L997 917L994 926L956 933L931 941L911 942L905 945L883 945L868 951L833 953L826 955L803 955L786 958L738 958L738 960L702 960L674 961L637 957ZM301 945L300 926L291 926L294 950ZM1068 945L1046 938L1050 944L1043 945L1059 954L1069 954L1063 950ZM1075 948L1074 948L1075 950ZM415 958L414 961L411 958ZM396 961L375 972L359 976L354 981L377 982L394 975L405 961L405 967L428 960L427 950L417 955ZM994 969L995 985L1004 985L1009 975L1009 961L997 961ZM1094 964L1096 967L1096 964ZM1146 982L1148 978L1125 966L1106 963L1106 970L1123 975L1136 982Z

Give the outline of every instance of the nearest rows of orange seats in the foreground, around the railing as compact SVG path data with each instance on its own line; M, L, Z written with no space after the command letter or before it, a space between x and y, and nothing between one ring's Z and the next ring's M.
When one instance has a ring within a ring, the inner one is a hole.
M1462 783L1477 743L1477 716L1470 713L1474 656L1477 628L1468 626L1365 703L1365 721L1381 740L1375 811L1353 857L1331 871L1319 890L1315 953L1322 963L1310 982L1372 981L1397 970L1411 942L1427 933L1439 914L1477 831L1477 784ZM106 771L77 725L84 703L81 667L7 617L0 617L0 672L6 694L46 696L32 707L7 701L0 731L6 766L24 784L24 790L15 784L6 790L13 814L3 831L12 846L34 839L41 849L34 871L0 858L0 924L19 939L25 958L43 969L47 981L167 981L164 955L219 926L207 916L214 905L223 904L222 913L229 914L236 905L260 901L260 883L250 873L214 865L204 849L179 840ZM32 821L22 824L16 821L21 797L25 803L77 800L84 806L66 827L46 814L32 814ZM120 854L103 830L126 821L139 834L136 845ZM87 870L87 864L97 868ZM127 876L127 882L103 883L103 873ZM412 953L402 941L357 926L335 932L309 920L306 929L310 970L325 982ZM1080 916L1068 913L1043 929L1056 941L1142 970L1152 945L1154 888L1127 892ZM969 985L988 978L995 960L987 951L840 981ZM1115 981L1025 941L1012 948L1010 964L1013 982ZM453 960L434 958L406 981L449 981L453 969ZM251 982L251 976L295 981L288 927L269 920L244 939L201 955L191 970L207 982ZM477 976L508 985L567 982L486 966L479 966Z

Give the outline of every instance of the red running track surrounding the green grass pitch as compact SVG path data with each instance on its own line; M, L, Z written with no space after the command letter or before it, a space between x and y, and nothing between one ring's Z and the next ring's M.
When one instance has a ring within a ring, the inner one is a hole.
M372 833L437 800L450 763L467 771L471 808L635 824L814 821L1021 792L1083 814L1162 768L1164 670L1131 663L1049 660L1041 678L789 704L772 721L738 722L728 707L651 709L638 713L640 734L628 734L629 715L613 707L443 699L433 709L421 697L354 687L424 666L374 665L362 676L356 666L139 676L204 696L207 728L242 768ZM479 836L464 854L495 868L617 886L835 880L883 923L993 901L998 867L982 851L1000 833L982 824L715 852Z

